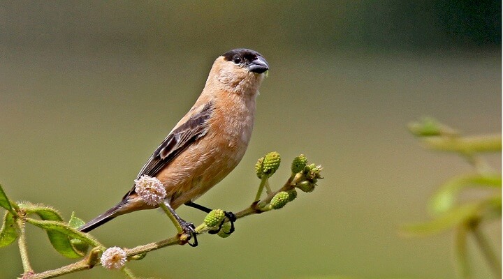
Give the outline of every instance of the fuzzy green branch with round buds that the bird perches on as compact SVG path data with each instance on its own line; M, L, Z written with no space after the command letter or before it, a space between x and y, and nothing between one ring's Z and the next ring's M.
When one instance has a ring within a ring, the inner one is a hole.
M260 199L262 190L264 188L263 186L268 186L268 179L270 178L270 176L272 176L272 174L276 172L277 168L279 167L279 163L280 163L280 157L279 154L276 152L268 153L265 157L258 160L256 165L256 174L261 179L261 186L258 189L256 200L252 202L251 205L249 205L247 208L243 209L242 211L239 211L238 213L235 213L236 220L239 220L240 218L245 218L246 216L249 215L263 213L265 211L280 209L283 206L285 206L288 202L291 202L293 199L297 197L297 192L295 190L296 188L302 190L303 192L311 192L312 190L314 190L314 186L316 186L316 181L318 179L322 179L322 177L320 176L322 167L319 165L316 166L314 164L307 165L307 159L303 155L301 155L295 158L295 160L293 160L291 166L292 174L289 177L289 179L287 179L287 181L284 183L282 188L279 188L279 190L276 191L271 191L270 188L268 187L267 188L268 195L266 195L263 199ZM149 189L152 189L152 187ZM162 196L162 198L159 200L163 201L163 198L164 196ZM7 200L6 196L3 200ZM0 206L5 208L7 205L4 206L0 204ZM30 206L31 205L25 204L23 209L27 210L31 208ZM81 222L83 223L82 220L75 218L75 216L72 215L71 222L68 223L67 225L63 223L62 220L59 221L59 215L53 209L48 209L47 207L43 207L42 209L45 212L45 214L41 214L40 210L36 211L36 213L38 213L39 216L44 217L43 218L44 220L25 218L23 219L23 223L24 220L26 220L27 223L31 225L36 225L37 227L41 227L42 229L45 229L48 232L55 231L64 234L66 238L68 238L67 240L71 240L71 242L73 241L71 243L71 246L73 249L72 251L75 253L81 251L79 247L75 246L76 240L80 241L80 245L89 244L91 246L94 246L94 248L92 248L91 252L89 252L89 255L87 255L87 257L81 259L78 262L68 264L67 266L62 266L59 269L44 271L41 273L33 273L33 271L31 271L29 263L27 261L24 261L23 257L24 275L22 279L54 278L68 273L73 273L76 271L92 269L94 266L100 264L107 267L108 269L122 269L122 271L124 271L124 273L128 278L135 278L133 276L133 273L129 269L127 269L126 266L124 266L126 260L131 261L131 260L143 259L143 257L145 257L145 255L147 255L147 253L150 251L164 248L167 246L173 246L175 244L184 245L188 243L189 239L191 238L189 234L184 234L183 232L180 232L178 234L175 234L174 236L171 236L168 239L163 239L161 241L136 246L134 248L113 247L105 249L105 247L101 245L101 243L99 243L96 239L94 239L94 237L92 237L90 234L78 232L78 230L75 229L76 227L79 226ZM220 213L223 213L223 211L221 211L220 209L208 213L208 215L205 218L205 222L201 223L201 225L198 225L198 227L196 227L195 234L196 235L205 234L210 229L221 228L222 230L221 232L218 233L218 235L221 237L228 236L228 234L225 234L223 228L230 227L229 223L231 222L231 220L226 218L224 214ZM50 218L48 218L48 215L50 215ZM22 227L21 224L20 227ZM24 240L21 239L22 238L20 237L20 241L22 242L23 245L25 245ZM20 245L20 249L23 247L24 246ZM117 252L117 254L115 255L108 254L109 251ZM24 254L22 253L22 255L26 254L27 253ZM105 254L107 254L106 256L107 258L103 259L105 257ZM71 253L70 255L74 254ZM28 264L25 264L25 262L27 262Z

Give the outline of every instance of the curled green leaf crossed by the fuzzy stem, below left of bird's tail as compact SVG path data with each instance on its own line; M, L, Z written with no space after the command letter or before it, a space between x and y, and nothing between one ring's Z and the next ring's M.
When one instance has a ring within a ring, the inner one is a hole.
M27 214L33 213L38 215L43 221L51 221L51 225L41 225L40 222L42 221L27 218L28 223L45 229L52 247L54 247L57 252L71 259L83 257L85 255L82 254L82 252L80 252L79 250L73 248L71 240L68 237L71 235L65 233L64 231L61 231L61 229L57 229L58 226L66 226L66 224L63 223L63 218L61 218L59 212L57 212L55 209L52 209L50 206L43 206L38 204L24 203L20 204L20 206ZM73 236L71 237L75 238Z

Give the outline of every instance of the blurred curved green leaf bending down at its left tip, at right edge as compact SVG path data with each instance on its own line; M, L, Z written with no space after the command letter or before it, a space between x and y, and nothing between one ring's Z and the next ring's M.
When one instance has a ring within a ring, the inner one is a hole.
M440 186L428 202L429 211L438 215L451 209L455 204L456 195L465 188L501 188L501 174L469 174L457 176Z

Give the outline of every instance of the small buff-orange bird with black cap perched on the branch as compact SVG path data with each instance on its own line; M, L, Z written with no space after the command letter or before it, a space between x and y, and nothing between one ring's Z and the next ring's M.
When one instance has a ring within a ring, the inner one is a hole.
M137 179L147 175L163 183L164 204L184 232L194 236L192 246L197 245L194 225L182 220L174 210L186 204L211 211L193 201L224 179L245 155L254 126L258 88L268 70L268 62L254 50L235 49L219 56L201 96L138 173ZM145 203L133 186L121 202L79 230L89 232L122 214L156 207ZM226 216L232 224L235 216Z

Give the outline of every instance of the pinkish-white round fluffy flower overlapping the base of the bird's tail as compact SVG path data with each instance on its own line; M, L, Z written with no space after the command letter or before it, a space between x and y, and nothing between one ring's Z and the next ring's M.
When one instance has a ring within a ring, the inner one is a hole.
M143 199L145 204L156 206L166 197L166 189L159 179L142 175L135 180L135 192Z

